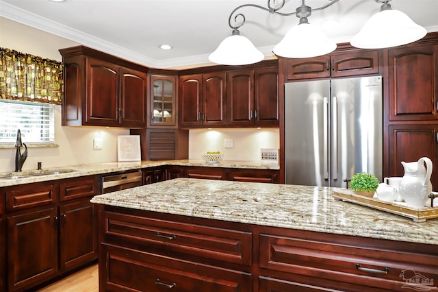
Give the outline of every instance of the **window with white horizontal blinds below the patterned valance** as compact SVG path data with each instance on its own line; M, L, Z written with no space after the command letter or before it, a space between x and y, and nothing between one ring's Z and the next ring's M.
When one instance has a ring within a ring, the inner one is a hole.
M14 143L18 129L24 143L54 143L53 105L0 99L0 143Z

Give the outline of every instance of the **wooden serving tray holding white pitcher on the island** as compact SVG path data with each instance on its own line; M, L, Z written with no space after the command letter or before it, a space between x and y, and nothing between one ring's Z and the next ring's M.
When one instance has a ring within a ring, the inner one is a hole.
M438 218L438 208L424 207L415 209L406 206L404 202L388 203L373 197L364 197L355 194L352 190L346 188L334 188L333 196L342 201L352 202L362 206L367 206L377 210L386 211L392 214L404 216L413 219L414 222L424 222L426 219Z

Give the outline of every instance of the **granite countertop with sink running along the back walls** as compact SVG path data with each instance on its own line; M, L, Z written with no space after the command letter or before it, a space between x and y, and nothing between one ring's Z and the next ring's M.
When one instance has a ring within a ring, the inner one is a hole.
M36 170L0 173L0 187L1 186L16 186L18 184L30 184L33 182L44 182L48 180L60 180L63 178L76 178L85 175L96 175L103 173L112 173L116 171L130 171L136 169L143 169L148 167L160 167L166 165L188 166L188 167L222 167L235 169L274 169L278 170L279 165L262 165L261 162L256 161L231 161L222 160L218 163L207 163L204 160L143 160L138 162L107 162L95 163L92 165L75 165L70 167L54 167L44 169L44 171L60 171L58 174L50 175L29 175L38 173ZM42 174L42 173L41 173ZM26 176L18 179L2 179L5 176Z

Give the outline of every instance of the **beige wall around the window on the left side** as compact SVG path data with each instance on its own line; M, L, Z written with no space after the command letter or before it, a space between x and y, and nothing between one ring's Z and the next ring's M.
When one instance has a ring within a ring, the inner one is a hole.
M0 47L62 61L58 49L79 45L77 42L0 17ZM64 167L117 160L117 136L128 135L126 129L106 127L62 127L61 106L55 106L55 148L29 148L23 170ZM102 138L101 150L93 150L93 138ZM25 142L25 141L23 141ZM0 172L14 171L15 149L0 149Z

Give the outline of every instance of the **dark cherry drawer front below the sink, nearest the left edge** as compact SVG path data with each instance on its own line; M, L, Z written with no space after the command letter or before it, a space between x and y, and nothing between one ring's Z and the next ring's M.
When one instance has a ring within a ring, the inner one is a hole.
M7 212L45 206L57 201L57 184L23 184L5 188L5 194Z

